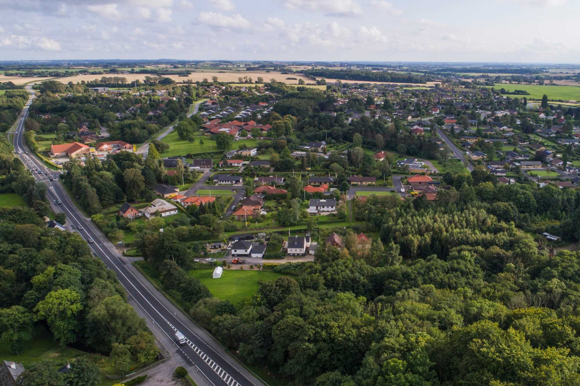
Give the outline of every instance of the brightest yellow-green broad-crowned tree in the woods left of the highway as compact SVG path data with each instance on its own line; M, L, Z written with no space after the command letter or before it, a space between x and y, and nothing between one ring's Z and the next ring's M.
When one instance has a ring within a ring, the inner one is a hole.
M49 292L34 307L36 319L46 319L50 332L62 347L77 340L78 321L75 316L83 308L80 300L77 292L60 289Z

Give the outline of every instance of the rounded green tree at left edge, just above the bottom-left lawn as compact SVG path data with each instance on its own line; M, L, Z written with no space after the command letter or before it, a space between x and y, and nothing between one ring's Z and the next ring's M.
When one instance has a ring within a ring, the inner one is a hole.
M20 305L0 308L0 329L2 339L8 341L10 352L20 354L24 342L32 338L32 314Z

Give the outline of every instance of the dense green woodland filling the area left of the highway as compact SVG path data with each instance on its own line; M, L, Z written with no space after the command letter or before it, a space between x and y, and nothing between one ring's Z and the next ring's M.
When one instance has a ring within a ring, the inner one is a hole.
M21 353L40 324L63 347L73 344L111 355L119 374L126 373L132 360L153 362L157 345L146 323L126 303L114 272L91 256L79 234L45 226L50 207L44 184L35 184L13 156L12 146L0 138L0 189L19 193L29 204L0 208L0 334L10 352ZM53 365L39 362L28 367L19 382L99 381L95 363L78 359L72 366L65 377Z

